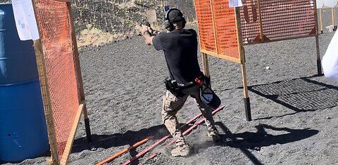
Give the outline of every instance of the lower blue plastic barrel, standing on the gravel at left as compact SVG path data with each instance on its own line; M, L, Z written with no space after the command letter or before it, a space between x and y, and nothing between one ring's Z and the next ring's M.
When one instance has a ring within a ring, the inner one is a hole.
M0 160L22 161L49 149L39 79L0 85Z

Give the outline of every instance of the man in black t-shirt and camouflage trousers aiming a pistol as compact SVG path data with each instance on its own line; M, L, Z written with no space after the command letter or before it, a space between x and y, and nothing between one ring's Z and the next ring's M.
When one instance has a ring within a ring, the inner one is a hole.
M162 119L175 139L176 148L171 154L174 157L186 157L189 154L189 145L182 136L176 114L188 96L196 100L206 120L208 136L213 140L219 140L220 136L215 128L211 107L202 102L200 86L194 81L204 77L197 60L197 33L194 29L184 29L186 20L177 8L171 8L165 14L164 24L167 33L155 35L151 27L143 25L142 34L146 44L164 52L170 79L165 81L167 91L163 96Z

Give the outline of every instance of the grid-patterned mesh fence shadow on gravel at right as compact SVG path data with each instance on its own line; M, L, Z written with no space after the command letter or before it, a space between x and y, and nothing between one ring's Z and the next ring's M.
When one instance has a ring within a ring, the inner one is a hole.
M294 110L295 112L292 114L336 107L338 103L338 87L313 81L309 78L311 77L248 86L248 89L253 93ZM278 117L287 115L291 114L284 114ZM273 117L259 119L270 118Z

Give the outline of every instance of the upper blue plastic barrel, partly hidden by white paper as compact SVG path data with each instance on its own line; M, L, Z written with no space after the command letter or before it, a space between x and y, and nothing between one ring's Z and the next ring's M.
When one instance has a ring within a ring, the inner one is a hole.
M11 4L0 4L0 83L37 78L33 41L20 41Z

